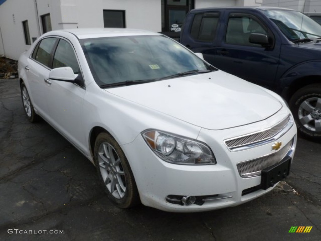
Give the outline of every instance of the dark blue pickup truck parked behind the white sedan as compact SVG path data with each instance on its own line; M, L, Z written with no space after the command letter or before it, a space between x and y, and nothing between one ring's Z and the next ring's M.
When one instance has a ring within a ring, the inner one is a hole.
M213 66L280 94L289 103L299 133L321 141L317 22L284 8L195 9L186 16L180 42Z

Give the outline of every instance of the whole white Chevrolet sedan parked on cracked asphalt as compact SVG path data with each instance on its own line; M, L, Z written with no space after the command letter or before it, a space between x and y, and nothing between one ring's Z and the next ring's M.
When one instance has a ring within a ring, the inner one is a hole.
M283 99L159 33L51 31L18 69L29 121L82 152L118 207L235 206L289 174L297 132Z

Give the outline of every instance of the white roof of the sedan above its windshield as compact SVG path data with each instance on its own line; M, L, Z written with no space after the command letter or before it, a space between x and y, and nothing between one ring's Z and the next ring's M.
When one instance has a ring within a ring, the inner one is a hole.
M126 28L77 28L77 29L62 29L50 31L50 35L60 35L64 32L69 32L75 35L78 39L101 38L101 37L117 37L117 36L138 36L138 35L161 35L160 33Z

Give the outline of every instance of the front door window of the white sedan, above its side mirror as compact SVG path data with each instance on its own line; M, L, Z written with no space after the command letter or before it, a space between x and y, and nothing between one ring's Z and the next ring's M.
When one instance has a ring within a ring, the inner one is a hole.
M65 66L71 67L75 74L79 72L79 65L74 53L74 48L67 41L61 39L55 52L52 68Z

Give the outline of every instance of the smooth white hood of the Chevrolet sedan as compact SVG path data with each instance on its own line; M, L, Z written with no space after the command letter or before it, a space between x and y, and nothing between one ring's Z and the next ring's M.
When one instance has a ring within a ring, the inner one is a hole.
M105 90L206 129L261 121L282 108L264 89L220 70Z

